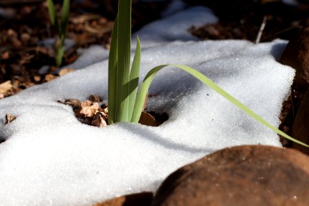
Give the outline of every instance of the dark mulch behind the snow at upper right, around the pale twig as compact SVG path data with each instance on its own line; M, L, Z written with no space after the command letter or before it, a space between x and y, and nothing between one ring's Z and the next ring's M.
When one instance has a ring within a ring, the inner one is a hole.
M289 40L308 18L309 3L299 7L276 0L210 0L187 1L190 5L203 4L211 8L219 22L205 27L192 27L192 34L202 39L247 39L255 42L262 22L265 27L260 42L275 38Z

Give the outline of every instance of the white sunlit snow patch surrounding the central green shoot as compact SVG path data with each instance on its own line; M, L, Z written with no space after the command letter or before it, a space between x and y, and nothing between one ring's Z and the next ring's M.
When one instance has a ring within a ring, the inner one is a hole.
M198 16L202 11L211 21ZM295 74L276 61L286 41L197 41L186 33L187 14L196 24L216 21L206 8L190 8L168 17L170 24L163 19L137 32L143 47L141 80L156 65L190 65L278 126ZM80 60L87 58L93 56ZM163 125L81 124L72 108L57 100L85 100L91 94L106 100L107 65L103 60L0 100L0 137L6 139L0 144L0 205L91 205L155 192L168 174L220 148L280 146L271 130L175 68L160 71L150 87L155 95L148 108L170 115ZM5 113L17 118L5 125Z

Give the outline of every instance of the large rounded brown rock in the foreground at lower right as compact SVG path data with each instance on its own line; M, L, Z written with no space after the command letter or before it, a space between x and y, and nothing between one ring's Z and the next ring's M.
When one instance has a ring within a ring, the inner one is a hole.
M309 205L309 157L271 146L226 148L168 176L152 206Z

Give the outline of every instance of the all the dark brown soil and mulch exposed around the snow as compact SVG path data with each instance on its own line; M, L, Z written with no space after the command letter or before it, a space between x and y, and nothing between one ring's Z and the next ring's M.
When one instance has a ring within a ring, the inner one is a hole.
M62 1L54 1L60 11ZM90 45L108 48L111 41L113 19L117 12L117 1L84 0L71 1L67 37L75 41L62 61L62 66L78 58L77 49ZM170 1L142 3L133 1L133 32L159 19L160 12ZM220 21L203 27L192 27L192 34L201 39L246 39L252 42L272 41L275 38L289 40L299 27L308 23L309 3L301 1L297 7L284 5L279 0L187 0L189 6L206 5L214 11ZM54 51L40 42L54 37L55 31L49 23L47 5L43 0L0 0L5 15L0 16L0 98L6 98L35 84L48 82L63 73L56 73ZM264 25L264 29L261 29ZM258 37L260 36L260 37ZM44 73L41 67L47 65ZM304 90L293 86L290 98L284 102L280 128L290 134L290 128L301 103ZM93 104L93 103L91 103ZM91 105L90 105L91 106ZM104 108L101 108L104 110ZM166 114L152 112L157 122L163 122ZM101 115L100 117L103 117ZM1 142L1 140L0 140ZM284 146L292 146L282 139Z

